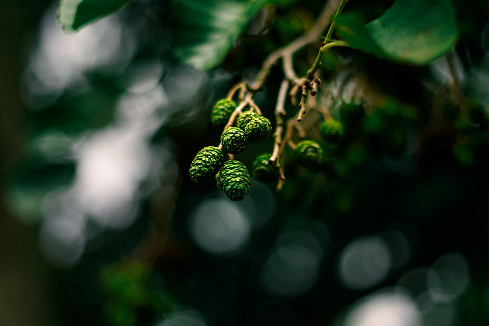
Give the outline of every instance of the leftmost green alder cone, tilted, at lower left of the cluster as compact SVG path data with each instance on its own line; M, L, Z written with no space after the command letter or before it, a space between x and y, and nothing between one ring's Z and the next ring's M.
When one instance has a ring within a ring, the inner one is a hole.
M190 165L190 178L196 183L211 181L224 163L224 153L217 147L208 146L195 155Z

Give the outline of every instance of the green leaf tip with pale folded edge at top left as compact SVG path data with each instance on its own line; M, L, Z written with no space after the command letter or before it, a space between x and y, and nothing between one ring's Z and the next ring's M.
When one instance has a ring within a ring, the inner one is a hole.
M60 0L58 21L65 32L73 32L90 22L110 15L132 0Z

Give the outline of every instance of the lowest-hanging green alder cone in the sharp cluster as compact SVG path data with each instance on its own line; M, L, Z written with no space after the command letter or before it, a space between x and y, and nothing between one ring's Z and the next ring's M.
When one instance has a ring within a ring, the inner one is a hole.
M250 188L248 170L240 161L226 161L219 171L217 185L229 199L243 200Z

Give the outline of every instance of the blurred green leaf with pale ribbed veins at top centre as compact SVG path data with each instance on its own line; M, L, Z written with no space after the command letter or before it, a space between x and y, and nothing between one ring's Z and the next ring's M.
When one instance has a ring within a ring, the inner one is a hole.
M207 70L221 64L250 19L269 1L179 0L174 55Z

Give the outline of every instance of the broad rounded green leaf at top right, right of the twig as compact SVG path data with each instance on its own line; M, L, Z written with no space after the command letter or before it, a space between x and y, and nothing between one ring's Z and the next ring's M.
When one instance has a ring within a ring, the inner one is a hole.
M365 26L351 15L342 15L337 33L353 48L412 65L441 57L458 39L450 0L397 0L382 17Z

